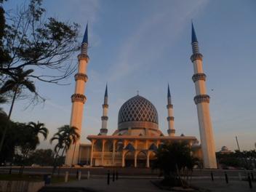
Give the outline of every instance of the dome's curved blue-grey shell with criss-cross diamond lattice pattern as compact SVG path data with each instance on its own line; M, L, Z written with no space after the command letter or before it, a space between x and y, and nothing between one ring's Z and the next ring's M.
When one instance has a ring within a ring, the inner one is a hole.
M127 100L119 110L119 124L128 121L149 121L158 124L158 119L155 106L140 95Z

